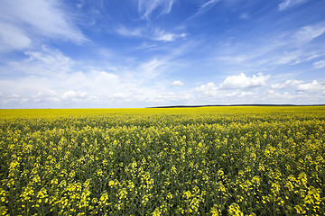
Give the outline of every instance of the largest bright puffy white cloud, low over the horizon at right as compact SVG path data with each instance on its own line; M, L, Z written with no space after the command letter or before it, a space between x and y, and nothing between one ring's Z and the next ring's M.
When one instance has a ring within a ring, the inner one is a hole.
M259 73L257 76L247 77L244 73L237 76L228 76L225 81L220 85L225 89L236 88L254 88L266 85L266 81L270 76L263 76Z

